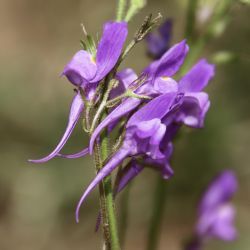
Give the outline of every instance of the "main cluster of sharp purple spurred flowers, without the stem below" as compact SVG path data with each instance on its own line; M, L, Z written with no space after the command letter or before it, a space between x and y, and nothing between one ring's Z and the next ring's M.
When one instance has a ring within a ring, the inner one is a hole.
M94 52L80 50L73 56L62 73L77 87L66 131L52 153L39 160L30 160L43 163L54 157L77 158L93 154L102 131L112 133L115 127L120 127L121 143L81 197L76 211L77 221L79 208L91 190L125 159L129 161L120 168L116 192L146 167L156 169L165 179L170 178L174 173L170 159L176 133L182 125L203 127L210 106L208 94L203 90L214 76L214 65L201 59L180 79L175 77L189 50L185 40L168 50L165 48L166 52L143 69L139 76L130 68L118 71L127 33L126 22L107 22ZM91 114L94 119L90 127L94 129L88 131L89 147L73 155L61 154L81 115L87 116L90 105L102 105L102 91L107 89L107 79L112 82L111 88L105 92L108 113L95 126L100 117L96 117L98 109L96 112L92 109L95 114Z

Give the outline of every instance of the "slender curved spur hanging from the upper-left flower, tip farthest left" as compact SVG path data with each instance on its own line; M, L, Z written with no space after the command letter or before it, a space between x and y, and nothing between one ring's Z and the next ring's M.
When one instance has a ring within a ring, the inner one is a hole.
M66 128L64 135L61 138L60 142L56 146L56 148L48 156L46 156L42 159L29 160L29 161L33 162L33 163L44 163L44 162L47 162L47 161L51 160L52 158L54 158L60 152L60 150L63 148L63 146L67 142L68 138L70 137L76 123L78 122L78 120L80 118L80 115L83 111L83 108L84 108L84 103L82 101L82 97L81 97L80 93L77 93L74 96L72 104L71 104L67 128Z

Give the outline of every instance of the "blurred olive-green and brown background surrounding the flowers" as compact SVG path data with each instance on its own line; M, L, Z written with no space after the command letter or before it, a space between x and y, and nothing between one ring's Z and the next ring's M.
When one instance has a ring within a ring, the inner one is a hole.
M206 1L202 1L205 3ZM210 1L211 2L211 1ZM0 1L0 249L100 249L94 233L97 192L74 210L94 176L90 157L54 159L44 165L27 163L44 156L62 135L73 86L59 75L79 49L80 23L101 34L103 22L115 16L115 0L1 0ZM130 36L148 13L174 20L173 42L183 38L186 1L149 0L130 24ZM184 129L175 146L175 176L167 183L167 204L159 249L181 249L193 230L201 190L224 168L234 169L239 191L238 240L210 242L206 249L248 250L250 245L250 9L235 4L223 35L210 43L205 56L231 50L241 59L219 66L208 87L211 109L205 129ZM100 36L99 36L100 37ZM149 60L145 44L137 46L122 67L139 72ZM80 126L64 152L87 145ZM133 184L124 249L145 249L151 216L152 191L157 173L146 170ZM119 218L119 199L117 203Z

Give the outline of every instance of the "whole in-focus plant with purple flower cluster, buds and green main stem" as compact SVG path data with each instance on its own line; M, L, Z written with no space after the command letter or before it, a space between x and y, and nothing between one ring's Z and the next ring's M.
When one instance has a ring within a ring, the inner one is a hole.
M160 28L158 36L150 31L161 16L147 16L124 49L127 22L144 4L143 0L131 0L125 13L126 1L119 0L117 20L104 24L97 46L84 28L83 49L73 56L62 72L62 76L76 88L65 133L48 156L30 160L44 163L55 157L94 156L97 174L78 203L76 220L79 221L83 201L99 185L101 217L98 222L102 222L105 249L120 249L114 211L116 195L147 167L160 172L163 179L172 177L174 171L170 160L176 134L183 125L203 127L210 107L204 88L214 76L214 65L200 59L189 65L191 69L180 78L179 71L189 46L183 40L169 48L169 21ZM131 68L120 70L127 54L145 37L149 53L156 60L138 76ZM61 150L82 116L89 145L78 153L64 155ZM111 141L115 127L119 128L120 134ZM119 169L112 185L111 176L116 168ZM207 216L205 212L200 215L200 227L204 227L201 222L204 214Z

